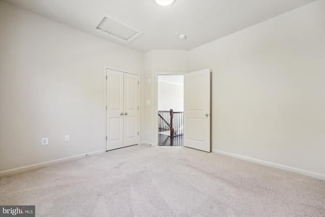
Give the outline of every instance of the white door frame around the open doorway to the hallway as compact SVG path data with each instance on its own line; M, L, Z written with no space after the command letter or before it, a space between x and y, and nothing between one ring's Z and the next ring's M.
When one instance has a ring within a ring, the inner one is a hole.
M185 75L187 72L156 72L154 77L154 93L155 96L152 98L152 105L153 105L153 119L154 119L154 144L152 145L158 145L158 75Z

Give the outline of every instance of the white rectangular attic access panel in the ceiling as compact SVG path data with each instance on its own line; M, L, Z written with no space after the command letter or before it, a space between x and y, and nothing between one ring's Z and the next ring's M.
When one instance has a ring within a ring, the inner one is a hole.
M119 40L124 43L131 43L143 33L139 30L132 28L106 14L98 19L94 25L94 30L110 38Z

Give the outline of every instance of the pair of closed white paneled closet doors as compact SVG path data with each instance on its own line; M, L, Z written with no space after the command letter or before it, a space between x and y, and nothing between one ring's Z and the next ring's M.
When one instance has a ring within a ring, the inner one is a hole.
M138 75L107 69L106 150L138 144Z

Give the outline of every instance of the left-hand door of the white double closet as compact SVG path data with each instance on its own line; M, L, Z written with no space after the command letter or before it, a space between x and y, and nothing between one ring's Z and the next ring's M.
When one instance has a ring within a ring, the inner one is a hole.
M108 69L106 75L106 150L112 150L123 147L124 73Z

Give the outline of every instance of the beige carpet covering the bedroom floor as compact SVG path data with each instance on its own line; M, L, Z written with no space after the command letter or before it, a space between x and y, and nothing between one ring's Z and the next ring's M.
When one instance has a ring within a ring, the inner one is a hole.
M0 178L36 216L325 216L325 181L186 147L136 145Z

